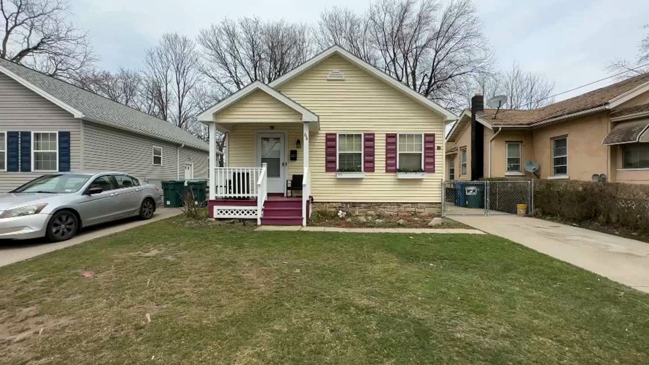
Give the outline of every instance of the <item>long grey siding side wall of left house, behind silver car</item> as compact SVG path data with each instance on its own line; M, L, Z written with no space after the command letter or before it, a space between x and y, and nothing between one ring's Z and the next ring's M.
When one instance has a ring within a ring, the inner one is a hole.
M153 146L162 148L162 165L153 165ZM159 185L163 180L184 177L186 162L193 162L194 176L206 175L207 151L184 147L180 149L178 166L177 147L172 144L84 121L84 168L86 170L124 171L147 183Z

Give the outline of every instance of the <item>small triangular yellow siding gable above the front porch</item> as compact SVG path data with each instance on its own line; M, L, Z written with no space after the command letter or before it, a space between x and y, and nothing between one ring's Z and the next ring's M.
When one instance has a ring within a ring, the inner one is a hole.
M302 121L295 110L257 90L216 115L217 123L258 123L259 121Z

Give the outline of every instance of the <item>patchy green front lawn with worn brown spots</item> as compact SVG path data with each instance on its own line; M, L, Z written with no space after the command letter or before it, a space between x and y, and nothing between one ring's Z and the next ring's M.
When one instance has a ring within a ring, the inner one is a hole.
M0 362L649 363L648 295L507 240L251 229L171 218L0 268Z

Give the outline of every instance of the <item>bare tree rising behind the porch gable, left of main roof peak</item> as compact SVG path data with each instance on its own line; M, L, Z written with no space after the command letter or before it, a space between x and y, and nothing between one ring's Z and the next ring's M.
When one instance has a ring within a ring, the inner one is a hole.
M225 19L202 29L202 73L224 97L254 81L271 82L312 55L306 25Z

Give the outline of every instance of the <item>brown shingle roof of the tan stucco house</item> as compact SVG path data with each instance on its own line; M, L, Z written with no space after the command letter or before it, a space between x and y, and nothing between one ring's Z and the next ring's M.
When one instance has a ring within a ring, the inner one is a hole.
M624 81L616 82L604 88L599 88L586 94L571 97L559 101L558 103L547 105L543 108L533 110L500 110L493 120L495 109L485 109L482 118L489 121L493 125L530 125L532 123L540 123L552 118L565 116L568 114L582 112L596 107L606 105L611 99L622 95L642 84L649 82L649 73L643 73L626 79Z

